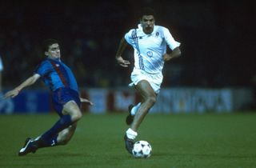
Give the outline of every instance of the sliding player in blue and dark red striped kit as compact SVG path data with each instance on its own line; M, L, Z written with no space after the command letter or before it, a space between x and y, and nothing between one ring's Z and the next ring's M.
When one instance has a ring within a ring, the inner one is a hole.
M43 43L43 47L47 58L37 66L30 78L27 78L14 90L7 92L5 98L14 98L24 87L30 86L42 78L42 81L50 88L54 110L60 118L50 130L38 138L26 138L25 145L18 152L19 156L34 153L42 147L66 145L74 134L78 120L82 118L81 102L93 105L86 98L80 98L74 74L61 61L59 42L47 39Z

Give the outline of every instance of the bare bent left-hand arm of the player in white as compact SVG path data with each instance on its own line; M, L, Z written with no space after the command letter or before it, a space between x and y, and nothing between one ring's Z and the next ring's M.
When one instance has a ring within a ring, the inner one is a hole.
M123 67L127 67L130 64L130 61L124 60L122 58L122 53L126 49L127 45L128 45L128 43L126 42L126 39L122 38L122 40L118 46L118 52L115 55L115 59L117 60L118 64Z

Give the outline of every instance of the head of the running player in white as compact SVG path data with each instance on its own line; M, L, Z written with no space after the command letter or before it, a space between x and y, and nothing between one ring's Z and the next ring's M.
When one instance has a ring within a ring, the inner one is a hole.
M155 13L154 10L145 7L140 12L140 23L145 34L151 34L154 30Z

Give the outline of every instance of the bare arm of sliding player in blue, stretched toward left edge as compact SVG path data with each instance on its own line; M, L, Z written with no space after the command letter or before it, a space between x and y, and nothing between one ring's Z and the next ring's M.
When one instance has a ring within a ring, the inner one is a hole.
M14 98L15 96L17 96L19 94L19 92L26 86L30 86L33 85L34 82L36 82L38 80L38 78L40 78L39 74L34 74L32 76L30 76L30 78L27 78L26 81L22 82L22 84L20 84L19 86L17 86L16 88L14 88L14 90L10 90L8 91L4 98Z

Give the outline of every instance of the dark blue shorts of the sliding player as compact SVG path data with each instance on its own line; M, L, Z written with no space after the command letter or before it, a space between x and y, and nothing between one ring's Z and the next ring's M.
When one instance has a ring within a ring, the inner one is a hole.
M70 88L62 87L53 91L52 101L54 110L58 113L60 117L62 117L63 106L66 102L74 101L80 107L80 97L76 90L71 90Z

